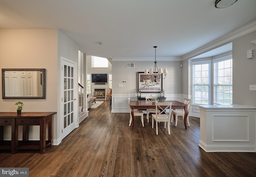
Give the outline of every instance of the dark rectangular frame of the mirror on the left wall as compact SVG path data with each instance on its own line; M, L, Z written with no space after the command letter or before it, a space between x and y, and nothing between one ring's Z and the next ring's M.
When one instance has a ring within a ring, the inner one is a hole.
M42 85L42 96L6 96L5 95L5 72L11 71L39 71L40 84ZM46 69L2 69L2 98L3 99L45 99L46 98Z

